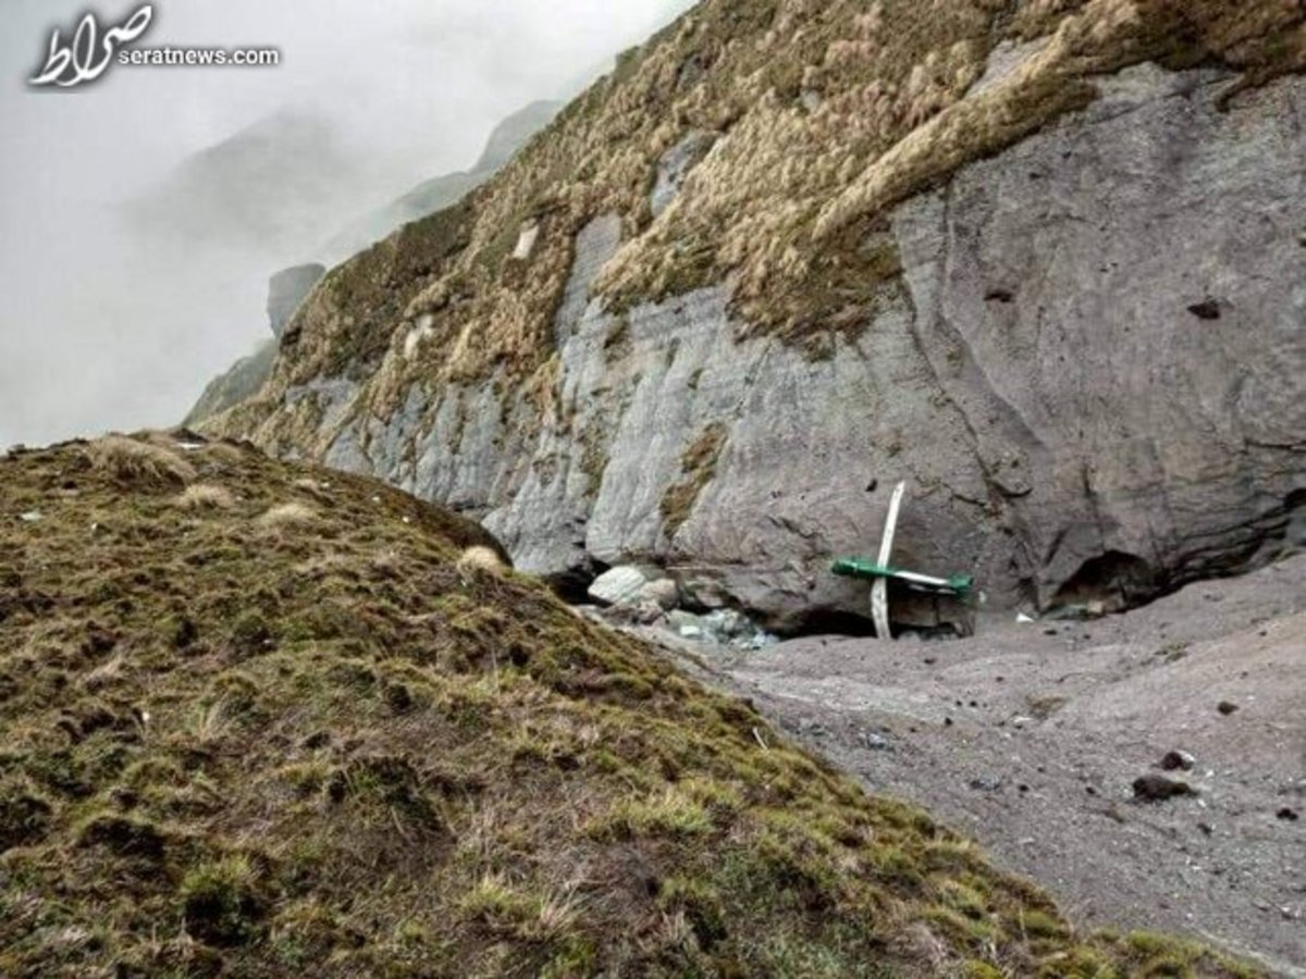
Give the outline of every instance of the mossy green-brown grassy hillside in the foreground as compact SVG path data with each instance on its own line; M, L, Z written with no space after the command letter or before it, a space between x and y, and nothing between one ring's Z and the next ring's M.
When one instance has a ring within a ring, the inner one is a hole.
M1246 974L1077 936L474 525L231 444L0 459L0 745L3 975Z

